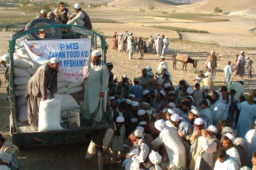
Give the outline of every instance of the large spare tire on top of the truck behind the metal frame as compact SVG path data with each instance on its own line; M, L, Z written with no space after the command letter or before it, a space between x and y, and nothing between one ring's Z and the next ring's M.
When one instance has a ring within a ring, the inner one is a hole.
M45 26L45 25L55 25L55 21L51 19L46 19L46 18L36 18L30 22L27 23L25 27L25 31L31 28L35 27L40 27L40 26ZM56 39L61 39L62 37L62 32L60 27L55 27L55 28L47 28L47 37L44 38L45 40L56 40ZM37 36L36 32L32 32L26 35L27 40L42 40L42 38Z

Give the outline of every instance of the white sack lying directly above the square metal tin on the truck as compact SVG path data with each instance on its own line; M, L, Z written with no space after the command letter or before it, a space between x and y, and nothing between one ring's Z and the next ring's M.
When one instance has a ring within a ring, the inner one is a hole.
M80 106L77 104L77 101L69 95L69 94L63 94L62 95L62 100L61 100L61 112L65 110L73 110L80 108Z

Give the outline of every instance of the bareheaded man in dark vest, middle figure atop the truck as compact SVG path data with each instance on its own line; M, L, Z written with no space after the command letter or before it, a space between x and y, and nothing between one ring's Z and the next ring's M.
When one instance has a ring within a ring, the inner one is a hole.
M66 24L72 15L69 9L65 8L65 3L63 2L59 3L59 8L55 9L53 13L61 20L62 24Z

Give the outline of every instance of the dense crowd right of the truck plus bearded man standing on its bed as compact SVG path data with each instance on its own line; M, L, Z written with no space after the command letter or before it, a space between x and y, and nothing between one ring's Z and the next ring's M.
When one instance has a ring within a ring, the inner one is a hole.
M244 80L225 79L218 90L207 86L207 78L213 84L216 73L214 56L212 52L206 74L199 70L193 86L181 80L174 88L164 56L155 73L146 66L133 81L126 74L118 80L114 64L105 65L100 51L93 50L85 118L100 126L104 117L113 126L93 136L86 158L96 153L100 170L109 162L116 169L120 161L126 170L255 170L256 88L246 98Z

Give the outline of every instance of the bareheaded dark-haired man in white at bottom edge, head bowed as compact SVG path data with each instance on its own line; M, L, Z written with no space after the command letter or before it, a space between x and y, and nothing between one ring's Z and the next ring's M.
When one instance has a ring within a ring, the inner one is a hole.
M216 151L217 161L214 165L214 170L238 170L237 162L233 157L226 153L226 150L220 148Z

